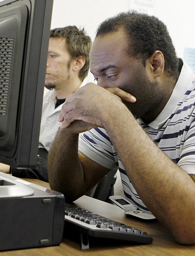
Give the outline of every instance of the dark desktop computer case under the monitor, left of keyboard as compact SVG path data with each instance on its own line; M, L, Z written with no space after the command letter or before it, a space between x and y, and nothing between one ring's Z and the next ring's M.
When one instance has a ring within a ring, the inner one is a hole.
M64 195L0 172L0 251L59 245Z

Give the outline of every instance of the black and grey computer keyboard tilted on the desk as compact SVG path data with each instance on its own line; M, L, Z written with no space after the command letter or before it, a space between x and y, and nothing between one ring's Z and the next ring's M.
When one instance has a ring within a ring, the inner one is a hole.
M94 212L87 211L74 205L65 204L65 228L80 231L80 243L82 249L89 248L89 236L97 238L110 238L129 241L140 244L150 244L153 238L137 228L110 220Z

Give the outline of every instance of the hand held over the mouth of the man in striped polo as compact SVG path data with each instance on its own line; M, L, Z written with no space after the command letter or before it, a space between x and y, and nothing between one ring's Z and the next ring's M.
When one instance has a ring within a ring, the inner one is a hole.
M102 88L93 83L88 83L76 92L68 95L65 104L62 106L58 121L60 128L67 128L75 120L82 126L80 132L90 130L94 127L104 127L104 120L109 118L112 110L117 110L117 105L121 101L135 102L136 99L128 92L119 88ZM87 125L88 123L89 125ZM75 124L74 124L75 125Z

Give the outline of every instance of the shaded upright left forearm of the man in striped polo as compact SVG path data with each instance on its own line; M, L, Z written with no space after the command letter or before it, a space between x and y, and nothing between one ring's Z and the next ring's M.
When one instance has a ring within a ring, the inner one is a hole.
M48 155L48 176L52 189L62 192L66 200L80 193L83 172L78 158L78 134L60 128Z

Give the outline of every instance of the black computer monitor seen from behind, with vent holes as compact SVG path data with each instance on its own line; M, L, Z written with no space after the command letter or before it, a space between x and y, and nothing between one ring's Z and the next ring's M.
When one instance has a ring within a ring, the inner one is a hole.
M0 162L37 164L53 0L0 2Z

